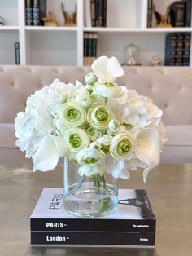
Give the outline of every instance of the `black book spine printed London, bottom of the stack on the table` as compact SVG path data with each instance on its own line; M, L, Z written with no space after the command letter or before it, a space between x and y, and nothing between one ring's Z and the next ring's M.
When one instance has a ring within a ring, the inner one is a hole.
M31 232L32 245L155 246L155 233L139 232Z

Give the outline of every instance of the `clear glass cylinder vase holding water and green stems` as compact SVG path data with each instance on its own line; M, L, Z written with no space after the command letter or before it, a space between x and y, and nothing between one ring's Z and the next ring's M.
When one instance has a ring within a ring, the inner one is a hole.
M118 205L117 180L111 174L80 176L79 166L64 157L63 189L65 210L79 217L111 214Z

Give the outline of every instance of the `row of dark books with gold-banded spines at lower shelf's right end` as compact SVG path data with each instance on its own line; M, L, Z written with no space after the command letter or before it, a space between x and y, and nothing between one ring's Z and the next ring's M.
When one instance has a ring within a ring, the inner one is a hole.
M190 65L190 33L168 33L165 38L164 65Z

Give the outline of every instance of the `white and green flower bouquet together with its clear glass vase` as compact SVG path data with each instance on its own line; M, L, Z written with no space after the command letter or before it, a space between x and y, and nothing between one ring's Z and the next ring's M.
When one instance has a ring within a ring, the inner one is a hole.
M129 170L139 167L146 182L159 164L166 131L151 99L115 83L124 75L115 57L99 57L91 68L85 85L55 79L28 97L15 118L15 135L34 171L54 170L64 157L65 209L96 217L116 210L116 179L129 179Z

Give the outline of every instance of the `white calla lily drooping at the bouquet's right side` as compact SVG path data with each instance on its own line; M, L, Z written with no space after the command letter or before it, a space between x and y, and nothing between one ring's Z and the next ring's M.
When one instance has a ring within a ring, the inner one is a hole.
M148 172L159 164L160 135L155 128L146 128L137 135L135 144L136 156L148 167L143 171L143 181L146 182Z

